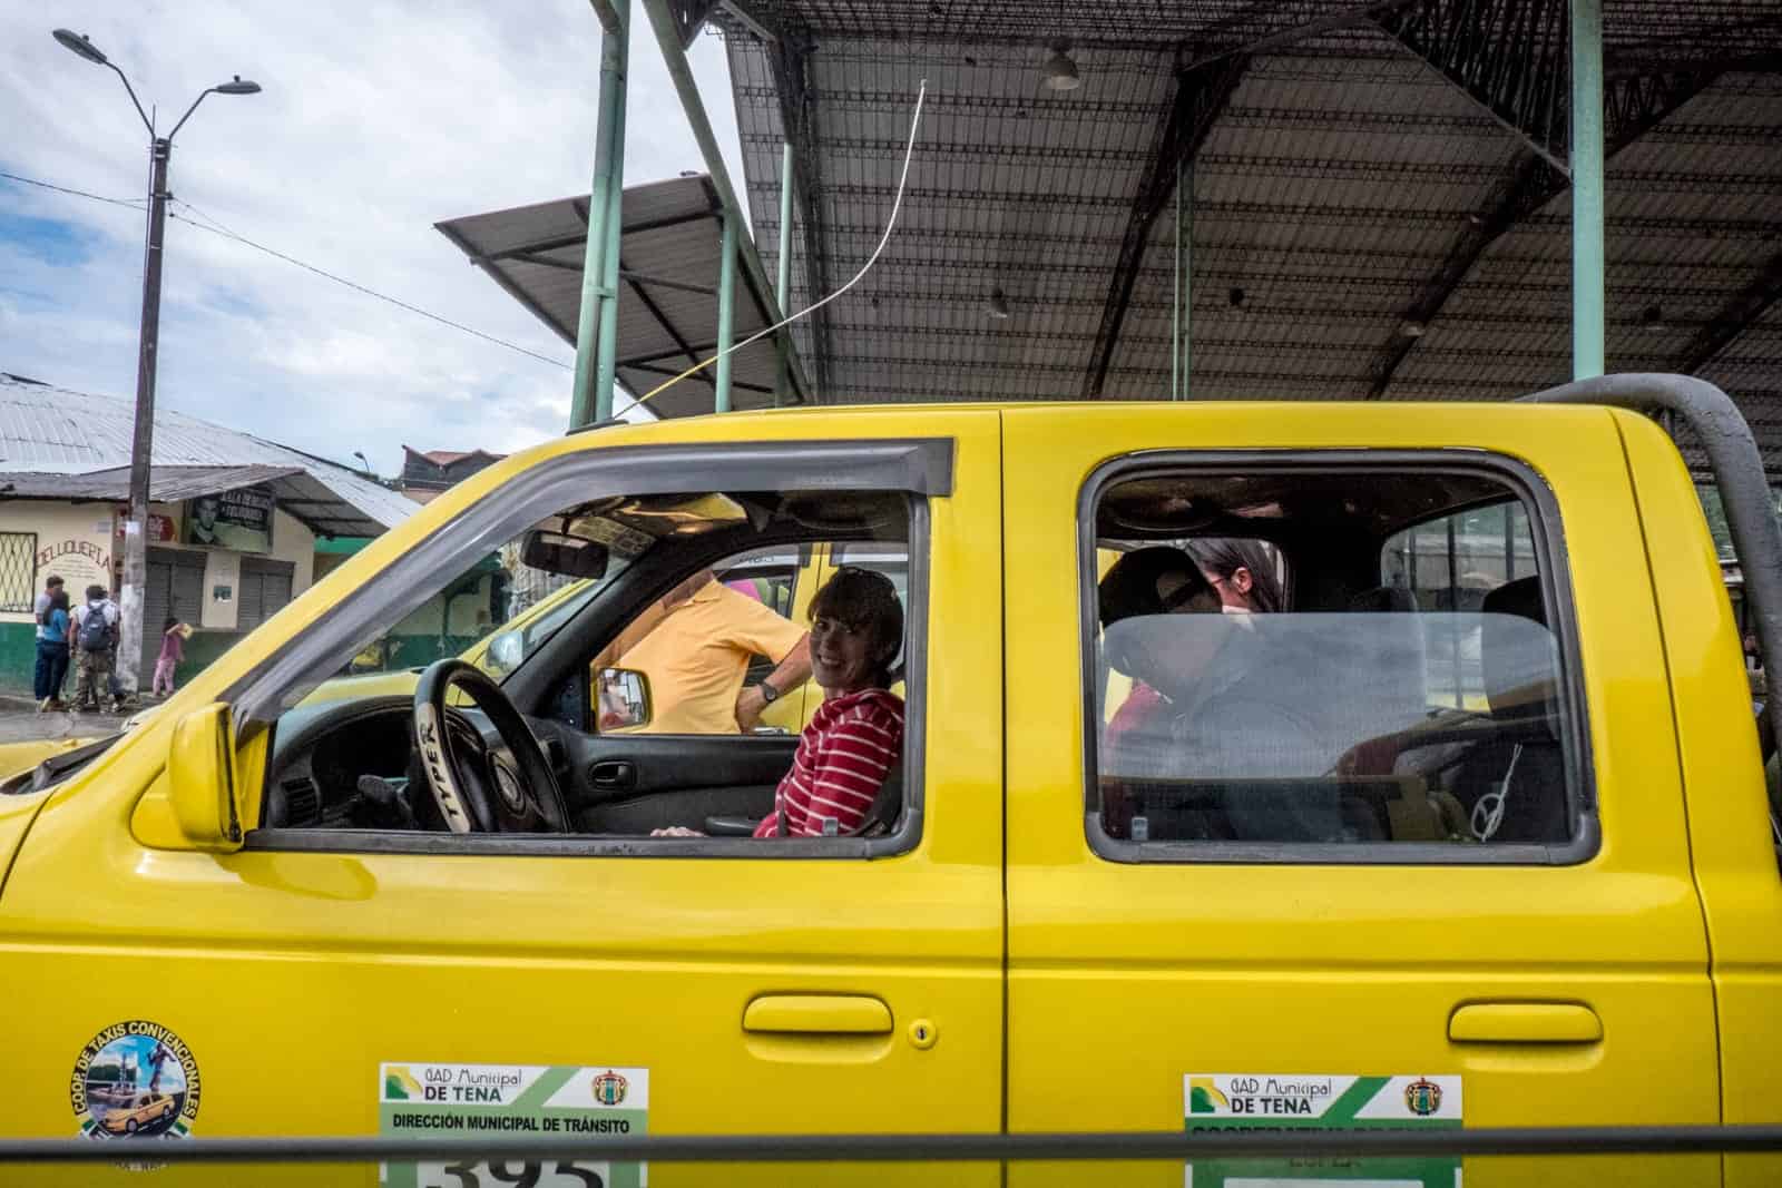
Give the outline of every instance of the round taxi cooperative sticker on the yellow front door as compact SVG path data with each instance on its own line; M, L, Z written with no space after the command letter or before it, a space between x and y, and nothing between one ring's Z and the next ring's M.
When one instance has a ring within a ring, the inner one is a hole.
M185 1138L198 1117L198 1062L159 1022L114 1022L75 1060L68 1101L84 1138Z

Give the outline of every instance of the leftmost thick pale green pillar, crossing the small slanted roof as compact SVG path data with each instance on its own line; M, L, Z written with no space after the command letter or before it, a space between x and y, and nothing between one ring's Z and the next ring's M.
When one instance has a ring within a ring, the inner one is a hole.
M618 353L618 208L625 187L625 68L631 0L609 0L601 18L601 114L593 134L588 244L576 319L576 388L568 427L613 415Z

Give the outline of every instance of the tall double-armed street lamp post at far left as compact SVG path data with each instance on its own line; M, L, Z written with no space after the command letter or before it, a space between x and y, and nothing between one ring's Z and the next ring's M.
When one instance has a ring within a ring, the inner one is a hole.
M123 82L130 93L135 114L148 128L148 246L143 258L143 328L137 340L135 358L135 429L130 435L130 518L123 525L123 590L119 591L119 632L118 632L118 689L123 696L134 696L139 688L139 661L143 657L143 593L148 584L148 477L150 456L155 438L155 362L160 342L160 258L162 237L168 226L168 160L173 157L173 137L178 135L185 121L192 118L198 105L210 93L216 94L257 94L260 84L246 82L235 75L232 82L207 87L192 105L185 109L180 121L168 135L155 135L155 121L143 110L135 98L135 87L118 66L112 64L98 46L87 41L86 34L57 28L52 34L71 53L78 53L94 66L105 66Z

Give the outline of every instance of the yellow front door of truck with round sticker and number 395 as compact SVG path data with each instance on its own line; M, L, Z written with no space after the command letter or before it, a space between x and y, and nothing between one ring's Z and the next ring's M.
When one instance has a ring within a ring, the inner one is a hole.
M985 554L1001 518L998 419L841 415L748 427L768 443L715 426L713 436L729 436L711 449L770 454L777 481L807 486L829 474L841 438L944 445L944 474L934 472L946 490L912 495L911 513L905 639L920 641L911 647L927 668L907 702L923 732L905 764L905 789L920 794L905 801L909 848L800 857L775 850L791 841L736 839L727 855L702 857L675 855L672 842L593 839L581 853L552 853L527 835L503 846L488 834L428 834L301 846L249 835L237 853L207 853L176 844L166 810L151 832L150 810L137 809L166 796L173 723L151 721L57 793L12 866L0 983L30 1028L12 1037L18 1108L0 1133L73 1136L91 1103L71 1108L69 1085L160 1042L173 1053L162 1086L180 1085L182 1133L198 1136L392 1133L390 1119L426 1113L435 1092L467 1110L510 1110L519 1094L535 1120L552 1117L552 1103L622 1110L631 1133L650 1135L1000 1129L1001 591L994 549ZM683 433L650 427L627 443L670 431ZM809 461L800 433L822 440ZM586 467L576 476L599 479L618 465L576 461L576 447L529 461L524 477L570 483L551 467L576 463ZM643 461L631 465L652 465L647 451L633 454ZM636 490L688 481L684 468L640 474ZM581 479L570 484L593 497ZM451 524L531 522L529 509L490 509L506 497L499 486L465 493ZM371 574L344 598L385 597L380 579L394 581ZM310 606L310 627L298 614L283 631L314 631L326 611L342 607ZM276 627L255 641L260 652L225 661L214 688L287 643ZM264 764L258 743L241 753L242 771ZM148 1076L132 1063L112 1081ZM435 1172L419 1183L470 1183ZM855 1172L862 1183L886 1177ZM486 1167L465 1174L499 1181ZM923 1183L932 1174L907 1170ZM982 1165L946 1174L998 1177ZM627 1176L606 1183L640 1183L636 1168ZM804 1176L829 1183L834 1170L649 1170L659 1184ZM374 1181L376 1168L362 1168L356 1183Z

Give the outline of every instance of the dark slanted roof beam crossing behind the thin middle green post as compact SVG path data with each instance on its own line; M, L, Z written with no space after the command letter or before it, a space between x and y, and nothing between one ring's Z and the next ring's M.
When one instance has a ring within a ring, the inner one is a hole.
M1164 112L1158 128L1157 157L1139 182L1139 192L1126 216L1126 233L1121 237L1108 296L1101 306L1101 326L1096 330L1089 372L1083 376L1083 399L1101 397L1108 365L1114 362L1114 349L1119 346L1119 331L1126 321L1126 308L1132 305L1132 290L1139 280L1146 248L1151 244L1151 226L1169 205L1171 194L1176 192L1181 164L1192 160L1194 153L1199 151L1247 66L1247 57L1224 57L1185 69L1176 78L1176 96L1169 110Z

